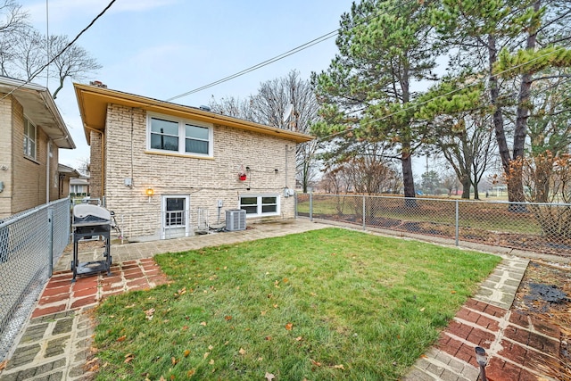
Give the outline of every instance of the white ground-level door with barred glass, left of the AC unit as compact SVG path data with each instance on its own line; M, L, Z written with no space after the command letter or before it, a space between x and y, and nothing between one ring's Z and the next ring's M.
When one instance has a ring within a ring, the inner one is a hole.
M190 232L190 197L188 195L162 196L161 239L188 236Z

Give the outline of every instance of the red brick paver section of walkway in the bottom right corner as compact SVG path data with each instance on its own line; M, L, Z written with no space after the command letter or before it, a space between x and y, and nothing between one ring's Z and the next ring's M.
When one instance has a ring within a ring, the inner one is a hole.
M558 377L559 345L559 327L470 299L443 331L436 348L476 366L474 348L481 346L491 359L488 380L524 381Z

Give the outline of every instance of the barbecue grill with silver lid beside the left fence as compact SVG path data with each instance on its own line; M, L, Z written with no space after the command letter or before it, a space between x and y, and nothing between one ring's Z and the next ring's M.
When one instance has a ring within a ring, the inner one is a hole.
M73 228L73 260L71 261L73 279L71 281L75 282L77 275L94 275L102 271L107 271L107 275L111 275L112 212L102 206L87 203L75 205L71 228ZM79 240L92 236L103 237L105 242L103 260L79 263Z

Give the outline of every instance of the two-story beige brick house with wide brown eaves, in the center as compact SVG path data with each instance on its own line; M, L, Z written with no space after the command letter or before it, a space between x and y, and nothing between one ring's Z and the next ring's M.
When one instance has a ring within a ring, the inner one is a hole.
M188 236L225 211L294 217L295 145L308 135L106 87L74 84L90 195L131 240Z

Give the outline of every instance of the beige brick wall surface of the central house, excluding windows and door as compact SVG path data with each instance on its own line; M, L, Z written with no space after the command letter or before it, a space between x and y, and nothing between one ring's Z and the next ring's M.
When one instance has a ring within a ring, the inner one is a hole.
M294 217L294 197L284 197L284 187L295 186L294 141L215 125L212 159L148 153L146 118L143 110L108 106L106 138L112 144L105 150L105 196L125 236L160 235L163 195L189 196L191 225L196 208L207 209L209 221L216 223L218 200L224 203L223 222L226 210L238 208L240 195L278 195L280 215L271 218ZM91 146L93 150L93 137ZM92 153L92 181L93 164ZM241 166L250 167L246 181L238 178ZM132 186L125 186L125 178L132 178ZM148 187L154 190L150 198L145 195ZM249 218L248 224L252 222Z

